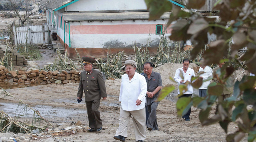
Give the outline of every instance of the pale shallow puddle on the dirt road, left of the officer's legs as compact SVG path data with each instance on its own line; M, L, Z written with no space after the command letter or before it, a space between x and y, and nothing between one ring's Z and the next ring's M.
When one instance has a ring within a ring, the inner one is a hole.
M76 116L78 114L87 114L86 109L66 109L63 107L52 107L52 106L46 106L46 105L36 105L33 107L33 109L38 110L42 117L44 118L67 118ZM18 104L14 103L0 103L0 110L3 110L6 112L10 117L14 117L17 115L25 115L26 117L33 118L34 111L30 108L26 109L24 108L24 105L20 105L18 107Z

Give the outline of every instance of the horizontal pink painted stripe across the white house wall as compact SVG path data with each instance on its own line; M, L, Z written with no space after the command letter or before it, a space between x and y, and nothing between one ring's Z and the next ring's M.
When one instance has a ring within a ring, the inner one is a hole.
M70 26L71 34L149 34L156 33L156 24L145 25L77 25Z

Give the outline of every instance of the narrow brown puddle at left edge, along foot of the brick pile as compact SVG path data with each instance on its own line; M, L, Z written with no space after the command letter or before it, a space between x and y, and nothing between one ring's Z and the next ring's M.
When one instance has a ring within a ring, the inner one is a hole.
M37 86L37 85L42 85L40 83L36 84L26 84L26 83L0 83L0 87L3 89L16 89L16 88L24 88L24 87L30 87L30 86Z

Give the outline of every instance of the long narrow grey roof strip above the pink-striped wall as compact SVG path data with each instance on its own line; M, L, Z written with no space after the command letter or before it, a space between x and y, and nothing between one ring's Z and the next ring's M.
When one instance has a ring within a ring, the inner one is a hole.
M159 19L169 19L170 12ZM112 12L112 13L63 13L64 21L111 21L149 19L149 12Z

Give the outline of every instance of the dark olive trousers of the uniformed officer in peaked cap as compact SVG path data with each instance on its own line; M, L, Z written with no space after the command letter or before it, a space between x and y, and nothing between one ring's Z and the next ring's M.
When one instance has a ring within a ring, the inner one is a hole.
M89 127L93 130L97 130L102 127L102 120L100 119L99 104L100 99L96 99L90 102L86 102L87 115L89 119Z

